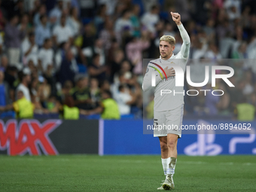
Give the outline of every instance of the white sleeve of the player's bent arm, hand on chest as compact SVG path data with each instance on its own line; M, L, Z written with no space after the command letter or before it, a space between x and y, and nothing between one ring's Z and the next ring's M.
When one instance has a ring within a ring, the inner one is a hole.
M147 71L145 73L145 76L143 78L143 83L142 83L143 91L151 90L152 88L152 72L154 72L154 69L148 65ZM162 80L162 78L158 72L155 72L155 76L156 76L156 85L157 85Z

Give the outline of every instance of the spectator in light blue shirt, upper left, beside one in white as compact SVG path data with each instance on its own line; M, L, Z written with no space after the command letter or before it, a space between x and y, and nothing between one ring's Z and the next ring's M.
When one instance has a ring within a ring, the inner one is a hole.
M44 40L50 38L50 26L47 25L47 15L40 16L40 24L35 28L35 42L39 47L43 46Z

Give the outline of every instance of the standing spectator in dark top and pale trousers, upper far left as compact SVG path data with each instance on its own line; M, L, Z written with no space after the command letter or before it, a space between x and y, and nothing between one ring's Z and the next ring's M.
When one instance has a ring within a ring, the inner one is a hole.
M8 59L11 65L20 62L20 43L26 35L26 26L17 28L19 19L17 15L11 17L10 22L5 26L5 45L8 51Z

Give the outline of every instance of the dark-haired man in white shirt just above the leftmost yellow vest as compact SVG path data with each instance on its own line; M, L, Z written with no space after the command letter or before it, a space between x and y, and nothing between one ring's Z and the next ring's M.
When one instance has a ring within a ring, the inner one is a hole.
M26 99L31 102L31 97L30 97L30 91L29 91L29 84L31 81L31 72L28 68L24 68L22 72L20 72L20 84L18 85L16 89L16 98L17 93L19 91L23 92L23 95L26 97Z

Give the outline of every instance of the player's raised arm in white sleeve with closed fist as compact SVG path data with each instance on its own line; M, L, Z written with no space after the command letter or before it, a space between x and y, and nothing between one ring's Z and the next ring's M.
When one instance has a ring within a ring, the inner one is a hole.
M189 56L189 49L190 49L190 38L189 35L187 34L186 29L184 28L184 26L181 23L181 15L178 13L172 13L172 20L177 24L178 26L178 30L181 34L181 38L182 38L182 45L181 45L181 55L187 59Z

